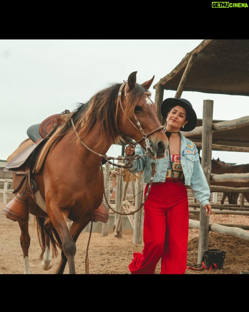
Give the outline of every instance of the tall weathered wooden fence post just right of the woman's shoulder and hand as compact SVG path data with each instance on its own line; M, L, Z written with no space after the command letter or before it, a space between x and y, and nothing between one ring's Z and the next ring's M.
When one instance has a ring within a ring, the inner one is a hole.
M203 101L202 117L202 156L201 167L204 171L208 185L210 187L211 164L212 164L212 129L213 129L213 100ZM209 216L206 216L204 208L200 208L200 232L198 245L198 262L201 263L204 250L208 249L209 240Z

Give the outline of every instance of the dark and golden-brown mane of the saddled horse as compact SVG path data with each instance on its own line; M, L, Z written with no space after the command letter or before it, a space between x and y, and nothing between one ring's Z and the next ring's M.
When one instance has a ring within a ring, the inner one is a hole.
M120 86L121 83L113 83L106 89L98 91L85 104L80 103L73 112L62 115L60 117L60 120L63 120L62 125L57 131L56 136L54 136L54 139L51 140L51 146L54 147L68 130L72 128L71 118L73 118L80 138L87 135L96 125L97 121L101 121L100 136L98 139L103 140L107 137L114 144L119 144L123 138L115 126L115 101L117 101ZM144 91L145 89L142 85L136 84L134 90L128 93L126 100L129 105L123 106L124 113L122 121L124 121L125 117L132 117L135 106L144 94ZM121 110L120 107L119 110ZM118 120L119 122L120 120ZM79 141L76 135L75 140Z

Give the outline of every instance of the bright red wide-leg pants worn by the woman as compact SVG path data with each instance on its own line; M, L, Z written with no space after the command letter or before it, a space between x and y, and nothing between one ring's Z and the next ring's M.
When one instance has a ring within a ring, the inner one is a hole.
M148 184L145 188L147 192ZM142 253L134 252L131 274L184 274L187 266L189 209L187 189L181 180L153 183L144 203Z

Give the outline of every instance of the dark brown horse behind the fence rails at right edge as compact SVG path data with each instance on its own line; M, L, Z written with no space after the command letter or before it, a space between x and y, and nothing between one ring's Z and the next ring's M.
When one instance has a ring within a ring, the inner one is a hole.
M232 165L232 166L224 166L219 163L219 161L216 161L212 159L212 168L211 168L211 173L214 174L224 174L224 173L249 173L249 163L247 164L242 164L242 165ZM248 188L249 183L243 183L243 182L236 182L236 181L231 181L231 182L211 182L211 185L216 185L216 186L227 186L231 188ZM232 201L234 200L234 203L237 203L236 197L238 199L239 193L232 193L232 198L230 199L229 203L233 203ZM249 193L243 193L244 197L247 199L247 202L249 202ZM231 197L231 195L230 195Z

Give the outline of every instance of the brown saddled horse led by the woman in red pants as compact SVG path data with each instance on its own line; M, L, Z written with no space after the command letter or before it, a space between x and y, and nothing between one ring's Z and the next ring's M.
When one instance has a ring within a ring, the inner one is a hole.
M166 155L168 139L148 91L154 76L139 85L136 83L136 73L131 73L124 83L115 83L97 92L85 105L63 115L63 123L53 136L53 144L40 171L31 176L39 186L47 210L42 210L30 196L28 210L36 216L45 270L52 266L51 239L53 256L54 253L57 255L56 247L61 249L56 274L63 274L67 262L69 274L76 274L76 241L93 220L93 213L102 202L104 185L101 160L113 143L132 138L151 158ZM23 177L13 174L14 189ZM68 218L73 221L70 230ZM18 223L24 273L29 274L28 220L23 224ZM46 232L51 234L50 239Z

